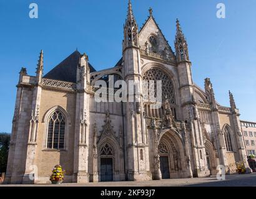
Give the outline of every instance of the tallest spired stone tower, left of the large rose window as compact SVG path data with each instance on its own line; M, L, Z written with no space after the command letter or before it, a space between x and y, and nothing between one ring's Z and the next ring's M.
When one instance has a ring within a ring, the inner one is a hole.
M134 82L134 94L126 103L127 180L147 180L149 174L149 149L145 145L145 119L142 113L142 78L140 72L139 33L129 1L123 41L124 80ZM131 87L131 86L129 86ZM136 91L136 92L135 92ZM134 102L131 102L132 99ZM140 157L141 156L141 157ZM142 157L143 156L143 157Z

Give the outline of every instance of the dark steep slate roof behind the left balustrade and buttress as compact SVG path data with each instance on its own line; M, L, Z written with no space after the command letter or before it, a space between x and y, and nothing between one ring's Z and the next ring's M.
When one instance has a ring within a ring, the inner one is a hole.
M54 67L44 78L51 80L70 81L76 83L76 69L79 64L81 54L78 50L73 52L69 57L63 60L59 65ZM96 72L94 67L89 63L90 72Z

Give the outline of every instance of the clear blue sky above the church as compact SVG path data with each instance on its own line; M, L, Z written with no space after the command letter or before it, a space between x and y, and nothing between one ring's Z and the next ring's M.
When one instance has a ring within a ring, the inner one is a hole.
M29 4L39 6L39 18L29 18ZM216 17L223 2L226 18ZM141 27L153 8L155 20L174 50L178 17L187 42L194 82L204 88L212 80L215 98L229 106L234 93L241 119L256 121L256 1L133 0ZM97 70L109 68L122 56L127 0L1 0L0 2L0 132L11 132L16 85L21 67L35 75L41 49L44 73L76 48L89 55Z

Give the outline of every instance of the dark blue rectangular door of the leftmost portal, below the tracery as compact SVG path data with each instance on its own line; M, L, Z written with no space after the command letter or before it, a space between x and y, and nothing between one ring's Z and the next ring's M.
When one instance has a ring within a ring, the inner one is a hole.
M101 158L101 182L113 180L113 159Z

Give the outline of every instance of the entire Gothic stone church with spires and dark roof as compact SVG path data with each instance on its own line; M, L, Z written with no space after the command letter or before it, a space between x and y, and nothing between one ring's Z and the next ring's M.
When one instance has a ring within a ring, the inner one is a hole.
M206 177L218 165L232 174L240 161L248 168L232 93L230 107L221 106L209 78L204 89L194 83L178 20L176 29L174 51L152 9L138 29L129 1L122 58L114 67L96 71L76 50L46 75L42 51L36 76L22 68L5 183L49 183L56 164L66 170L64 182L74 183ZM161 80L162 106L150 108L142 83L139 102L96 102L95 83L109 75Z

